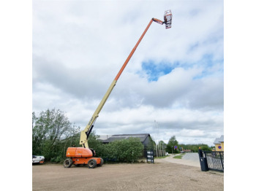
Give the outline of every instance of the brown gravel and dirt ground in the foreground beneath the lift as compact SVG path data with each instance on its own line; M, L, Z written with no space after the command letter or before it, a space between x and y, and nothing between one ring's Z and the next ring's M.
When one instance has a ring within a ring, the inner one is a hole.
M32 170L33 190L224 190L224 174L166 159L94 169L43 164Z

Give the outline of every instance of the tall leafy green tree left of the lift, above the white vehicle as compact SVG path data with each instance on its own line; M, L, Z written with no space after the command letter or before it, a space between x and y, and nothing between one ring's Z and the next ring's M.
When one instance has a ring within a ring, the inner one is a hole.
M72 126L64 112L59 109L47 109L39 113L39 117L32 113L32 154L44 155L45 160L64 156L66 140L75 139L79 128ZM70 137L73 139L69 139ZM62 147L62 148L61 148Z

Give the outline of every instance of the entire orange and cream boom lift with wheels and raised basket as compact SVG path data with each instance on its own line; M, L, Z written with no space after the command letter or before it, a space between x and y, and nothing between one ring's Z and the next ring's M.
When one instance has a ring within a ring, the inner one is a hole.
M124 62L120 71L118 72L115 79L113 80L110 87L108 88L107 93L105 93L104 97L102 98L102 101L99 103L99 106L97 107L96 111L92 115L91 120L89 120L89 123L86 125L86 128L81 131L80 144L82 144L83 147L68 147L67 148L67 152L66 152L67 159L64 160L65 168L69 168L72 164L73 165L87 164L89 168L95 168L96 166L102 166L103 159L99 158L99 157L95 157L96 154L95 154L94 149L89 148L89 145L88 145L88 138L90 136L92 128L94 128L94 122L96 121L97 117L99 117L99 112L102 110L102 107L104 106L105 102L108 99L108 96L112 92L113 87L115 87L118 78L120 77L121 73L124 71L124 68L127 66L129 59L132 58L133 53L135 52L136 48L140 44L140 41L143 39L143 36L146 34L146 31L148 31L148 28L151 26L151 23L154 21L161 25L165 24L165 28L171 28L172 17L173 17L173 15L172 15L171 11L167 10L167 11L165 11L164 21L158 20L156 18L152 18L150 20L145 31L140 36L140 39L135 44L135 47L132 49L132 52L129 53L127 60Z

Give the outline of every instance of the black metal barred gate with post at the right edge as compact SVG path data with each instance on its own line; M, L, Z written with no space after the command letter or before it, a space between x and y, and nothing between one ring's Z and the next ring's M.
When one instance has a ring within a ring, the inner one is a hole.
M218 151L198 151L202 171L222 171L224 172L224 152Z

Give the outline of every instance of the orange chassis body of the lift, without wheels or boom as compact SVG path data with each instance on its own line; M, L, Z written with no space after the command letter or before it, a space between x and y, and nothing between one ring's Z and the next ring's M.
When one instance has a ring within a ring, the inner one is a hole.
M94 155L91 149L83 147L68 147L66 152L66 157L70 157L74 165L88 164L91 159L96 160L97 165L100 164L100 158Z

